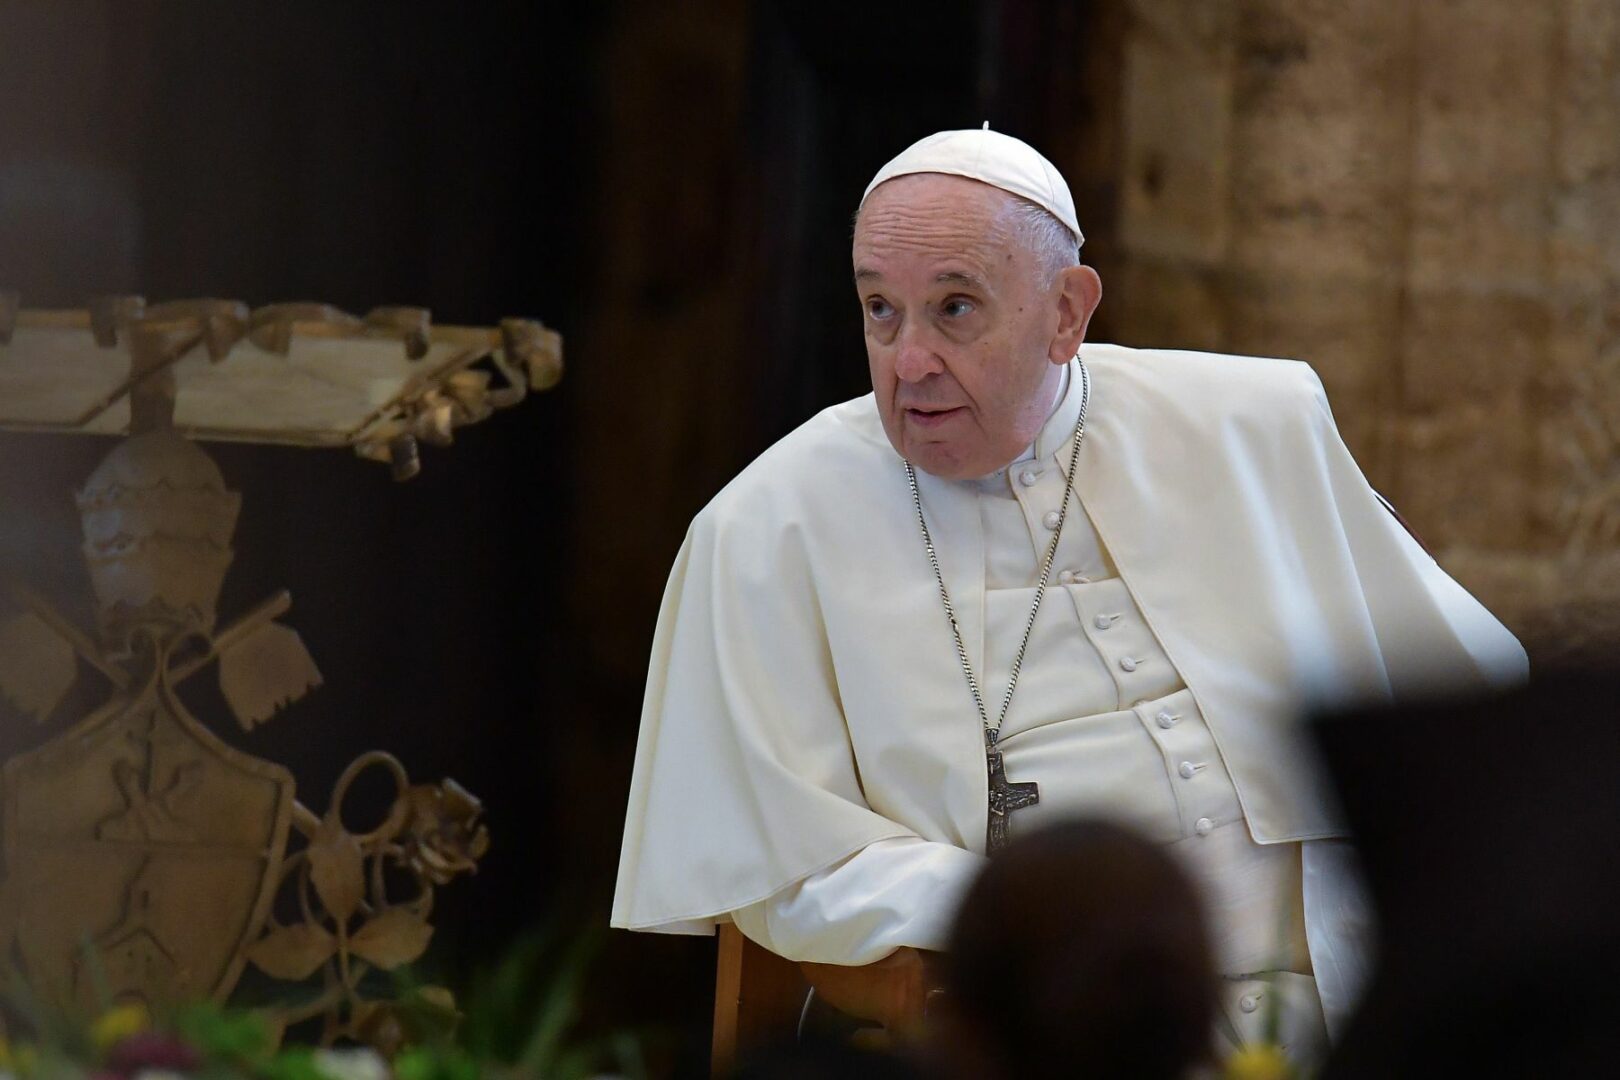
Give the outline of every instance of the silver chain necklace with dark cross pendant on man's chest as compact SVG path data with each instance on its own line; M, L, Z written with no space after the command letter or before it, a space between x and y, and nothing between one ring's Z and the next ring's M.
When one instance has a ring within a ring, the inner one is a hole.
M940 572L940 555L933 549L933 536L928 533L928 520L922 513L922 492L917 489L917 470L906 461L906 483L910 484L912 505L917 508L917 528L922 529L922 546L928 552L928 565L933 567L933 580L940 586L940 602L944 606L944 617L951 623L951 636L956 640L956 659L962 664L962 675L967 678L967 690L974 695L974 706L978 709L978 722L985 730L985 764L990 776L990 819L985 834L985 850L995 853L1006 847L1008 816L1014 810L1032 806L1040 800L1035 784L1009 784L1001 763L1001 724L1008 719L1013 706L1013 691L1017 690L1017 677L1024 669L1024 653L1029 651L1029 638L1035 630L1035 615L1040 614L1040 601L1047 596L1047 581L1051 576L1051 563L1058 557L1058 541L1063 536L1063 523L1069 517L1069 499L1074 495L1074 470L1081 460L1081 440L1085 437L1085 408L1092 400L1092 377L1085 369L1085 361L1076 358L1081 368L1081 415L1074 421L1074 449L1069 450L1069 471L1063 484L1063 507L1058 510L1058 525L1051 529L1051 541L1047 544L1047 557L1040 562L1040 581L1035 586L1035 602L1030 604L1029 619L1024 622L1024 640L1013 657L1013 674L1008 678L1006 696L1001 698L1001 712L995 725L990 724L990 712L985 709L985 696L978 690L978 678L974 665L967 659L967 644L962 641L962 627L956 622L956 609L951 606L951 591L944 588L944 575Z

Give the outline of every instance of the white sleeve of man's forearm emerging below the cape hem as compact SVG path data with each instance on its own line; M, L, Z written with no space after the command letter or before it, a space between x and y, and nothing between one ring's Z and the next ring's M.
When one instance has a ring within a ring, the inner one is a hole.
M951 844L875 840L731 918L789 960L860 965L902 946L943 950L956 907L983 865L983 855Z

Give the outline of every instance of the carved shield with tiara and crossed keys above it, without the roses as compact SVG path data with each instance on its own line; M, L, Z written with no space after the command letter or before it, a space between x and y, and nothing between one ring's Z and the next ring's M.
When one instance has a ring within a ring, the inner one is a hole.
M293 777L225 745L175 695L217 659L227 699L253 722L275 703L245 680L269 678L285 699L319 682L298 636L269 619L214 635L237 510L207 455L170 431L120 444L79 494L100 614L86 659L113 695L0 774L0 934L52 997L222 994L264 923ZM23 620L8 625L11 654L34 638L36 696L49 698L73 670L47 659L62 651L50 636L76 635L39 610Z

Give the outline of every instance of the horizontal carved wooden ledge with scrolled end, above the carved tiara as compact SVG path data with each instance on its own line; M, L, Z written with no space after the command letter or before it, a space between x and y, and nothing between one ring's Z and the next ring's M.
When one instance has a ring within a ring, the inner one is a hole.
M562 338L530 319L139 296L29 311L0 291L0 427L18 431L139 431L134 390L162 377L186 437L355 447L410 473L416 440L449 444L561 376Z

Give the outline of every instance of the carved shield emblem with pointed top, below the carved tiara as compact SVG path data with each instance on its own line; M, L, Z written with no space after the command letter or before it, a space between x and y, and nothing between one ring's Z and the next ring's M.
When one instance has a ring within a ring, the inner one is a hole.
M293 777L154 680L6 763L0 934L58 1001L224 997L279 878Z

